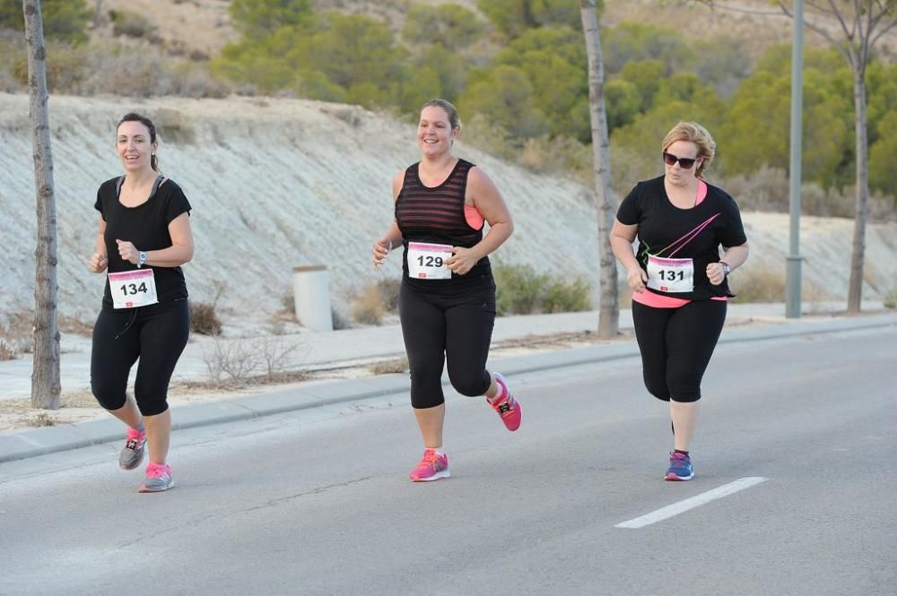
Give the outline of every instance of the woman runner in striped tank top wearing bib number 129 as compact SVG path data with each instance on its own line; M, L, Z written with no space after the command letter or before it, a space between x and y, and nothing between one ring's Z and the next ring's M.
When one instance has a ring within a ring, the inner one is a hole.
M423 439L415 482L448 478L443 450L442 369L458 393L485 395L505 427L520 426L520 404L499 373L486 370L495 322L489 258L514 230L507 205L482 169L452 155L461 131L445 99L423 105L421 160L393 179L395 220L373 246L374 268L402 246L399 318L411 368L411 405ZM484 223L489 231L483 235Z

